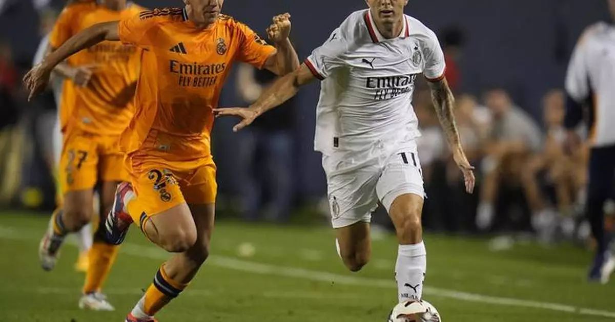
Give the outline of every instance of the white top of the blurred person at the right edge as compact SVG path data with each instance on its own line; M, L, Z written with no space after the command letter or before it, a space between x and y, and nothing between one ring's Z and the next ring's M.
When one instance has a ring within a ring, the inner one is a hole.
M576 45L566 75L566 92L577 103L590 102L590 143L615 144L615 26L591 26Z

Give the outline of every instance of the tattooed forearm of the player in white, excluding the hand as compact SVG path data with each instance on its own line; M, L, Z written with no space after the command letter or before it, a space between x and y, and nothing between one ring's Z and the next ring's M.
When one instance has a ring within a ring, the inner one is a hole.
M435 112L440 120L440 125L442 125L444 133L446 133L449 146L454 147L459 144L459 132L455 123L453 93L448 87L446 79L438 82L429 82L429 87L431 87L431 98L434 102Z

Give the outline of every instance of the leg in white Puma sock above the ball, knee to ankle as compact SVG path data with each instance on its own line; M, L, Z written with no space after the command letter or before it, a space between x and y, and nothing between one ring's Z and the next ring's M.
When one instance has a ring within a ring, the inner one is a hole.
M423 296L427 252L423 243L422 211L423 197L416 194L398 196L389 209L399 242L395 264L399 302L419 300Z

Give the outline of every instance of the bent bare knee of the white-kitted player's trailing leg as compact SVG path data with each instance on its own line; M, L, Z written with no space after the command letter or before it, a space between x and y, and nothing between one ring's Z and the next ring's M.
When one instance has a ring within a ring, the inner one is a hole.
M352 272L359 272L370 261L371 240L369 222L356 222L335 229L339 257Z

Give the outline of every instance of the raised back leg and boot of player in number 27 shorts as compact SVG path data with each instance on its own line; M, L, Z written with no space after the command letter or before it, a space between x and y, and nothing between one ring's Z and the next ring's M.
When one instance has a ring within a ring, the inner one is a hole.
M64 195L63 207L51 216L47 232L39 244L42 269L54 269L66 235L78 232L90 222L92 200L92 189L70 191Z

